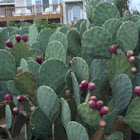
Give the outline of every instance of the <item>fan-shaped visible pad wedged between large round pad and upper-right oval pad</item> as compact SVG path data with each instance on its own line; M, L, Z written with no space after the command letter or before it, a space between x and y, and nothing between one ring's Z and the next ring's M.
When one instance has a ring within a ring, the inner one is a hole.
M102 27L104 29L106 29L112 36L112 42L114 44L117 43L117 32L118 32L118 29L120 28L122 22L120 19L109 19L107 20L103 25Z

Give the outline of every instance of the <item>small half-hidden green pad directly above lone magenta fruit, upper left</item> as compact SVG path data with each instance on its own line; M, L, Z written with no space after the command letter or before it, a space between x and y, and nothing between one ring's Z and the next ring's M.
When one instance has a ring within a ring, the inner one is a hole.
M38 57L38 56L44 58L43 52L40 51L40 50L35 50L35 49L30 49L30 50L28 51L28 57L29 57L29 58L35 59L35 58Z

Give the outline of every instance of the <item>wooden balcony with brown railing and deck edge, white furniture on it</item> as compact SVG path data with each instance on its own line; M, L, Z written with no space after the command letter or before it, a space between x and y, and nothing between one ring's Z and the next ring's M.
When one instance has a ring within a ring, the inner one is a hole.
M0 8L0 22L41 19L60 19L62 22L62 5L38 5L24 7L2 7Z

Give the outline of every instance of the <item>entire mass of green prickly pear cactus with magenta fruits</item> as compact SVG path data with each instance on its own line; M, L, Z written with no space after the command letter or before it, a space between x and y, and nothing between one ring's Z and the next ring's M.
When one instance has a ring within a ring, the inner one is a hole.
M108 2L91 11L92 23L81 19L72 28L0 30L2 139L140 134L140 16L120 17Z

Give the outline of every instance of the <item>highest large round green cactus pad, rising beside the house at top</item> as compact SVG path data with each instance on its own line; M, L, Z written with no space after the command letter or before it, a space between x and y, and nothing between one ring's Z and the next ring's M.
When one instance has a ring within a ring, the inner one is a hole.
M102 26L108 19L120 18L120 13L112 3L100 2L96 5L92 18L95 25Z

